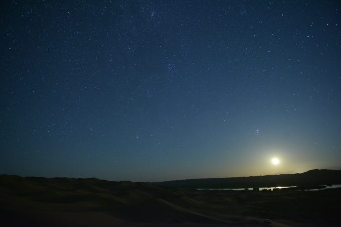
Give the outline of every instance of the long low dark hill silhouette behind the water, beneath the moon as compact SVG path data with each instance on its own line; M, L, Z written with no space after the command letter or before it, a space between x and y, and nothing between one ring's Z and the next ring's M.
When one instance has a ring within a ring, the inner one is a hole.
M252 188L341 184L341 170L313 169L304 173L251 177L204 178L151 183L181 188Z

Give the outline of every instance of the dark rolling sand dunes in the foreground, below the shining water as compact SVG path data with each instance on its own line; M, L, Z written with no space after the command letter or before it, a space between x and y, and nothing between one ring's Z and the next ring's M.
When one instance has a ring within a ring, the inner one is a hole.
M341 189L197 191L96 178L0 176L0 226L340 226Z

